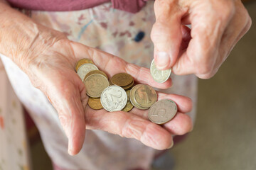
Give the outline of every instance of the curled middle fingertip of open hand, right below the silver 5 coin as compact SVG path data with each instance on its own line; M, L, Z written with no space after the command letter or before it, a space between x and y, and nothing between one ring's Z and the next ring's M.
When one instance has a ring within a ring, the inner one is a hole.
M185 135L193 130L193 122L189 115L177 113L175 117L168 123L165 123L164 128L172 135Z

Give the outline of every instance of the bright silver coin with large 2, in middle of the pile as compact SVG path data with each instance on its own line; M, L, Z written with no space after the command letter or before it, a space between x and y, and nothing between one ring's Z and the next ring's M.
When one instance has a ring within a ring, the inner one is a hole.
M127 94L119 86L108 86L100 96L100 102L106 111L121 111L127 104Z

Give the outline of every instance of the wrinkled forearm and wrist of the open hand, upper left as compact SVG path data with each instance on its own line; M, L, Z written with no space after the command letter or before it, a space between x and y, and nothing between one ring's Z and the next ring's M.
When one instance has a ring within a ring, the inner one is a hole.
M41 26L0 0L0 52L11 57L24 72L23 62L30 62L56 41L66 39L62 33Z

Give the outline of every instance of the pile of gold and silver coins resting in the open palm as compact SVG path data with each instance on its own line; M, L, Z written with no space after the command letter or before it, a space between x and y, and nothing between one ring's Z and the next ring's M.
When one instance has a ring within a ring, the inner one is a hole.
M156 91L151 86L146 84L134 86L133 77L127 73L114 74L109 81L107 74L100 71L89 59L79 60L75 65L75 71L85 84L86 93L89 96L88 105L92 109L105 108L106 111L110 112L129 112L133 107L142 110L150 108L149 120L157 124L168 122L176 113L173 106L175 104L174 101L157 101ZM153 71L153 73L156 76L158 74L165 76L162 79L158 77L158 80L164 79L166 81L169 78L166 78L165 72ZM171 72L168 74L171 74ZM169 114L170 108L172 109L171 115Z

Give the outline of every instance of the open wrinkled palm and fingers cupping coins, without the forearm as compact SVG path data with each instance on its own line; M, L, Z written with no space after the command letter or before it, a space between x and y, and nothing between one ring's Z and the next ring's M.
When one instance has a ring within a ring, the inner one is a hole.
M151 123L147 118L148 111L137 108L129 113L92 110L87 106L85 85L75 73L75 63L85 57L93 60L109 77L119 72L127 72L138 84L149 84L158 88L171 86L171 79L164 84L156 83L151 78L149 69L137 67L119 57L67 39L56 40L43 52L27 58L26 73L33 86L41 89L58 111L60 124L68 136L69 154L78 154L82 148L85 129L105 130L122 137L132 137L155 149L171 147L171 135L183 135L191 131L191 118L183 114L191 111L191 100L174 94L159 93L159 100L169 98L178 106L176 117L163 126Z

